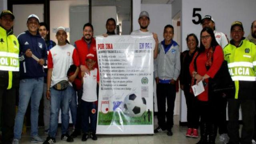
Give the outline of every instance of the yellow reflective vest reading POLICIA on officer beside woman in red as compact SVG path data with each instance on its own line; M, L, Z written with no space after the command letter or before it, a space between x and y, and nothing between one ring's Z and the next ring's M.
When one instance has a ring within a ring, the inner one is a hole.
M239 81L256 81L256 45L244 39L238 47L230 42L223 51L230 76L235 82L237 99Z

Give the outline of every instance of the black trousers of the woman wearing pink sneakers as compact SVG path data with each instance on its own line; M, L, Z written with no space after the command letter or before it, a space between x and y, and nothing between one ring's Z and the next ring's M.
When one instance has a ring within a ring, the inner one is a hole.
M184 89L184 95L187 104L187 122L188 128L198 129L199 126L199 109L198 109L198 99L193 94L190 93L189 88Z

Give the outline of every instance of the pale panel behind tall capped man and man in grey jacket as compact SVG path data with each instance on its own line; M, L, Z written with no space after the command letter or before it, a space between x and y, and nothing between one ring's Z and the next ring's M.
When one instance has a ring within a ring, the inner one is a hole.
M164 40L164 26L172 24L172 5L171 4L141 4L141 11L146 10L150 17L148 30L158 35L159 42ZM138 23L138 17L133 18Z

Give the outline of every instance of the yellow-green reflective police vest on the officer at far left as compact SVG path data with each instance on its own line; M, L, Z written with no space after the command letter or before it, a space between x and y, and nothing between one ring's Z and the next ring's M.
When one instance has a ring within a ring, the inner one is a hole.
M0 26L0 72L8 72L7 89L12 88L12 74L20 71L19 43L13 31ZM2 82L2 81L1 81Z

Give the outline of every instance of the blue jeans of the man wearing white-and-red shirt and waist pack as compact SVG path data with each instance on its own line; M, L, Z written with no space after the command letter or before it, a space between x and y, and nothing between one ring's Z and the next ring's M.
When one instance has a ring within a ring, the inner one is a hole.
M61 129L62 134L68 133L69 124L69 103L72 99L73 88L68 86L66 90L55 90L51 88L51 116L49 136L56 137L58 130L58 114L61 108Z

